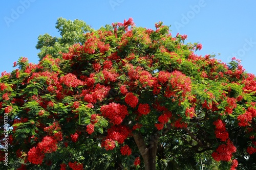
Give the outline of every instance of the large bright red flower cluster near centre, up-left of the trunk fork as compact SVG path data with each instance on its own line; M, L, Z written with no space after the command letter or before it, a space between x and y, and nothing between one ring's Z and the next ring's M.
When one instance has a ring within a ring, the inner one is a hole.
M128 114L127 107L117 103L110 103L100 108L102 116L111 120L114 125L122 123L124 117Z

